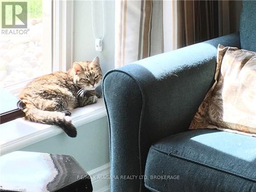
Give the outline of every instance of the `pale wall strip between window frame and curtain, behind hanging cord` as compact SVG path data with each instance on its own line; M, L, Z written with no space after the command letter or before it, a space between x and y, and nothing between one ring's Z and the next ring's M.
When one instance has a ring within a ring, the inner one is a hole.
M94 26L97 37L102 36L102 1L94 1ZM102 52L95 51L92 31L91 1L75 1L74 60L100 58L103 73L114 69L115 53L115 1L105 1L105 37Z

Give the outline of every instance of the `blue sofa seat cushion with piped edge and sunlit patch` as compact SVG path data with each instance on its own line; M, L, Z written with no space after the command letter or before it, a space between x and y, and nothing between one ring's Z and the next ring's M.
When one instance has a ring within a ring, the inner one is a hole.
M152 191L256 191L256 138L218 130L166 137L150 148Z

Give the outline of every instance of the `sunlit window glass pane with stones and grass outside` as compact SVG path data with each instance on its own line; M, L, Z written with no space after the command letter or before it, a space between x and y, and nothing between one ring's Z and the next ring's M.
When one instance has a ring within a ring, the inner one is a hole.
M23 82L52 70L51 1L5 2L3 4L1 1L5 13L0 9L0 87Z

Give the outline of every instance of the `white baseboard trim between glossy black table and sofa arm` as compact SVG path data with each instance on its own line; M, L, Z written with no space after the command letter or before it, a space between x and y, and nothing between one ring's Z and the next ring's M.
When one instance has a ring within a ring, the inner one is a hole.
M105 179L110 176L110 163L106 163L88 172L91 177L94 192L109 192L110 179Z

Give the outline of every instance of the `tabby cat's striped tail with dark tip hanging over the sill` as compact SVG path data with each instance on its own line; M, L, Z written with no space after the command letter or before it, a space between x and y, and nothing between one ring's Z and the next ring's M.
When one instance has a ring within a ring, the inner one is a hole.
M23 111L26 114L25 118L30 121L57 125L70 137L76 137L77 135L76 127L65 113L39 110L31 104L27 104Z

